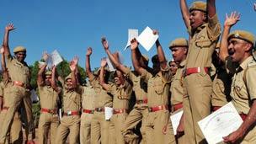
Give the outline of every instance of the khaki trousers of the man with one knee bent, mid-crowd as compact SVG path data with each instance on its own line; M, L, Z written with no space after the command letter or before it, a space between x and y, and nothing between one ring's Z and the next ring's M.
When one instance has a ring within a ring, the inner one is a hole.
M137 136L134 132L133 129L138 125L140 121L141 123L141 135L142 135L142 144L147 143L147 136L152 136L150 134L150 131L147 131L147 127L145 126L146 120L147 120L147 115L148 115L148 109L147 107L137 107L131 110L129 115L127 116L125 120L125 127L124 131L122 131L123 136L125 137L125 141L130 143L130 144L136 144L139 143L139 136Z

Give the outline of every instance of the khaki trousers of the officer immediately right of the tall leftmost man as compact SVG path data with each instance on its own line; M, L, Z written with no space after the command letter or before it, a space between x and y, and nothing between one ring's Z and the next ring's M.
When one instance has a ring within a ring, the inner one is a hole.
M60 122L58 115L52 115L50 113L41 112L38 125L38 137L40 144L47 144L49 130L51 143L54 143L59 123Z

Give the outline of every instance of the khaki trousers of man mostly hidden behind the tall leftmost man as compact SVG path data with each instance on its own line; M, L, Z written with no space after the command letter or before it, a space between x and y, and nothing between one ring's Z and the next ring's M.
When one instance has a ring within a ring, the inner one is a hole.
M3 110L0 113L0 124L3 124L3 120L5 119L5 115L7 110ZM0 129L0 131L2 131ZM20 144L22 143L22 123L20 120L20 115L18 112L15 113L13 122L11 124L11 130L8 131L8 136L5 141L6 144L13 143L13 144Z

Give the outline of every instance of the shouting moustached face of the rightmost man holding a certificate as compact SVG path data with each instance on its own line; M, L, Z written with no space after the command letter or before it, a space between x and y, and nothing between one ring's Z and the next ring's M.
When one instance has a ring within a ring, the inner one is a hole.
M237 38L231 38L228 41L228 54L232 57L233 62L241 63L246 53L248 42Z

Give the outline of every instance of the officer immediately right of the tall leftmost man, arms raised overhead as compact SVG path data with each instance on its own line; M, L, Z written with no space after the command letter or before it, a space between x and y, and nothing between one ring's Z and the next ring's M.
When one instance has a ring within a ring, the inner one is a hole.
M44 54L47 57L47 54ZM45 58L47 59L47 58ZM59 125L58 105L61 103L59 95L61 94L61 88L53 89L51 87L51 71L45 72L44 64L40 67L40 71L37 74L37 85L40 96L40 119L38 125L38 137L39 142L46 144L48 141L48 132L50 131L51 143L54 143L56 138L56 130Z

